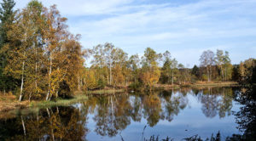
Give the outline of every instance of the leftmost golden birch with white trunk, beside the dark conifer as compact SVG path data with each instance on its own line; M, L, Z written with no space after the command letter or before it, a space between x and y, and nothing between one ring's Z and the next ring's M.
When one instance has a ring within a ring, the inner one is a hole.
M20 79L20 100L23 97L24 85L35 84L31 89L37 91L37 61L43 54L40 47L41 35L41 11L42 4L37 1L28 3L20 14L17 15L14 24L10 25L8 32L9 43L3 48L7 51L6 73L16 79ZM25 82L26 80L26 82ZM28 87L26 87L28 88ZM31 95L31 94L30 94Z

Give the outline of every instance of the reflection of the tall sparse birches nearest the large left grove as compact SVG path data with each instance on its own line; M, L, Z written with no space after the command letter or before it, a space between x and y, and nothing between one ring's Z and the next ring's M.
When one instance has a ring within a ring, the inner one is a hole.
M93 118L96 121L96 133L109 137L131 124L131 104L127 95L100 97Z

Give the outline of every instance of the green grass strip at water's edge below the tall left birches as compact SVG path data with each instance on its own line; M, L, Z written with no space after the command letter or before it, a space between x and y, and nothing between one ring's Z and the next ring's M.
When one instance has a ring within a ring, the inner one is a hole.
M79 101L84 101L87 99L86 95L76 95L72 99L56 99L55 101L32 101L29 106L30 107L52 107L52 106L60 106L60 105L69 105L74 104Z

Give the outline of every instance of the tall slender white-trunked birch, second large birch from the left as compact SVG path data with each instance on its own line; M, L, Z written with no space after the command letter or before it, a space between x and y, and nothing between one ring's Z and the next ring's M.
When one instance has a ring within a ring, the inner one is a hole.
M62 44L67 39L67 18L61 17L60 12L56 9L56 6L53 5L45 10L45 18L46 25L44 29L44 48L46 50L47 61L46 66L48 67L48 92L46 94L46 100L52 96L52 94L56 94L56 87L59 87L59 82L62 80L62 76L65 73L62 73L61 68L59 66L60 60L65 59L61 54ZM61 76L55 76L60 74ZM55 74L55 75L54 75ZM53 80L59 80L58 82L53 82Z

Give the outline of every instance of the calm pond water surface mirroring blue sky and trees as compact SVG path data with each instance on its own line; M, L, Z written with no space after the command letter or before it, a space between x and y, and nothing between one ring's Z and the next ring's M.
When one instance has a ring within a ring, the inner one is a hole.
M182 140L242 134L237 87L90 96L69 106L20 110L0 119L0 140Z

